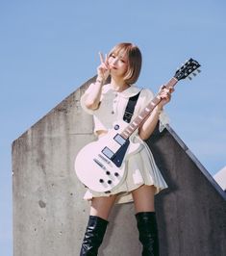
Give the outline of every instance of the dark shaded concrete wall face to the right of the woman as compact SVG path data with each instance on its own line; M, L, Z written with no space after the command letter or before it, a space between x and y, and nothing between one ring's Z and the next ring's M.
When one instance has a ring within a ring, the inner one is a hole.
M226 255L226 193L170 127L148 143L169 185L156 198L161 255Z

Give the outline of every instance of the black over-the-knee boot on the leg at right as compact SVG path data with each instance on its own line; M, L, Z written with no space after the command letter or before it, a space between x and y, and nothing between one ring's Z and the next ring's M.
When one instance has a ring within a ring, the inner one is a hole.
M143 245L142 256L159 256L159 241L156 214L154 212L138 213L139 241Z

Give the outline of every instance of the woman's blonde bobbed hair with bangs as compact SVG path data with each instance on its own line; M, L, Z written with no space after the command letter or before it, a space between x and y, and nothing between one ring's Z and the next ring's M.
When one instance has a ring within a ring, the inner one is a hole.
M138 80L142 64L141 52L139 51L137 45L131 42L121 42L113 47L108 54L108 57L112 56L113 54L117 55L120 52L125 53L128 58L128 69L125 73L124 81L129 85L135 84Z

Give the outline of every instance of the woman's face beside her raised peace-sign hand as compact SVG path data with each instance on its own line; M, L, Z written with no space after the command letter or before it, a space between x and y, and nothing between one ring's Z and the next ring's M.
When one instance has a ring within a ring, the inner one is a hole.
M128 69L128 57L124 51L112 53L108 59L112 76L124 77Z

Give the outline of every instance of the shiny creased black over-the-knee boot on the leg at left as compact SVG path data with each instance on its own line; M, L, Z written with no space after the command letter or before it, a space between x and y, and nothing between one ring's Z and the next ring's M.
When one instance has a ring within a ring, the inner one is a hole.
M109 221L96 216L89 216L87 231L80 251L80 256L96 256L103 241Z

